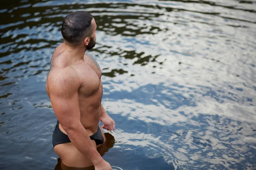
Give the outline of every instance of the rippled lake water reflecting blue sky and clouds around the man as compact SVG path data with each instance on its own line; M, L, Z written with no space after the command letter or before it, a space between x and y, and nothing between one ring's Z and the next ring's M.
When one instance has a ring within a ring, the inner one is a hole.
M77 10L98 26L113 169L256 169L256 0L3 0L1 170L57 165L45 82Z

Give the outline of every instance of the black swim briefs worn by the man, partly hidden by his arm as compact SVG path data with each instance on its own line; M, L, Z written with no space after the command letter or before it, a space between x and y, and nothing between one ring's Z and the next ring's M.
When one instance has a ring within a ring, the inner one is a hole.
M53 147L55 147L57 144L71 142L69 137L65 133L61 132L61 130L59 128L59 124L60 124L59 121L57 121L55 130L53 131L53 134L52 134ZM92 136L90 136L90 139L94 140L96 142L96 145L103 144L104 138L102 136L99 126L98 126L97 132L94 133Z

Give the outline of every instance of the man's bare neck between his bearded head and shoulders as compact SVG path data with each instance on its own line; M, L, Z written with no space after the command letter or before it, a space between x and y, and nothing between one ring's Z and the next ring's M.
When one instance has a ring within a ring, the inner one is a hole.
M84 48L84 45L71 45L70 43L64 41L63 42L63 48L65 51L69 51L72 54L72 59L80 60L84 58L84 53L86 51L86 48Z

